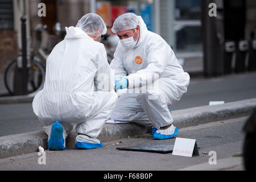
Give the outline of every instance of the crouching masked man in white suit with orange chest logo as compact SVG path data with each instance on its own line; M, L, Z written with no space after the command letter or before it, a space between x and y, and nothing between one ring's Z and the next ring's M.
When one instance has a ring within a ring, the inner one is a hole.
M166 41L147 30L141 16L118 16L112 32L119 37L110 67L120 97L110 118L152 126L154 139L174 137L179 131L172 125L168 105L187 92L188 73Z

